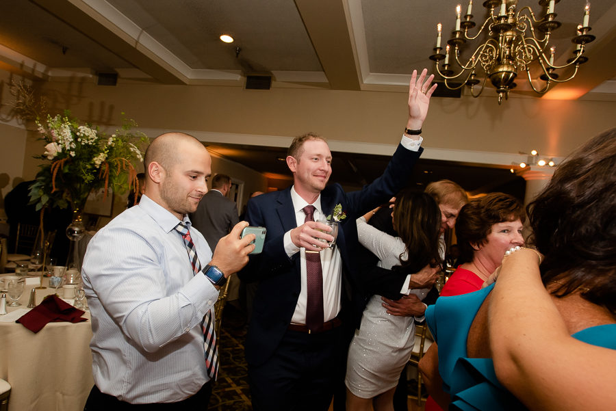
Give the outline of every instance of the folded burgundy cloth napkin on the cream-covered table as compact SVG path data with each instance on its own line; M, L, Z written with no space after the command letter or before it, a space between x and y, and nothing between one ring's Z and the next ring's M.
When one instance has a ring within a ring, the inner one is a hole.
M29 310L15 322L22 323L31 332L39 332L47 323L51 322L80 323L81 321L88 321L87 318L81 318L82 315L84 315L84 311L71 306L60 300L57 295L52 294L44 297L38 306Z

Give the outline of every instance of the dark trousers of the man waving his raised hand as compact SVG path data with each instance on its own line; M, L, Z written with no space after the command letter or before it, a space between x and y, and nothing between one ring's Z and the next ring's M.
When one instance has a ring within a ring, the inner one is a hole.
M287 330L271 358L248 364L253 409L327 411L343 355L342 327L317 334Z

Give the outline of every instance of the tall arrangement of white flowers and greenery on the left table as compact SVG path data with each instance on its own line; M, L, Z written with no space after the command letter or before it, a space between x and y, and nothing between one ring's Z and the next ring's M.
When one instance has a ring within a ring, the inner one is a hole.
M44 153L35 156L45 160L30 186L30 202L36 209L70 206L83 209L92 191L103 189L105 196L112 189L124 193L138 190L134 161L143 161L140 146L147 137L131 131L136 124L124 120L123 127L112 135L89 124L79 124L70 111L63 115L36 119L41 139L47 144ZM47 161L50 161L47 163Z

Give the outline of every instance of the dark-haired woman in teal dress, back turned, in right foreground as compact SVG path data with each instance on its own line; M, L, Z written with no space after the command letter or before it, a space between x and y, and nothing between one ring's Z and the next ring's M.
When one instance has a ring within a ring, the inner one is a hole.
M496 284L426 311L428 391L446 410L614 410L616 129L562 163L528 216L545 258L513 249Z

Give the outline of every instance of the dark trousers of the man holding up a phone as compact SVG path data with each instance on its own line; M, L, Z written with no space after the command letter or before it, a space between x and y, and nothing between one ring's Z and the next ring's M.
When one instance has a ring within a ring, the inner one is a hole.
M84 411L207 411L211 396L211 382L206 382L195 395L174 403L131 404L120 401L113 395L101 393L99 387L93 386L86 401Z

